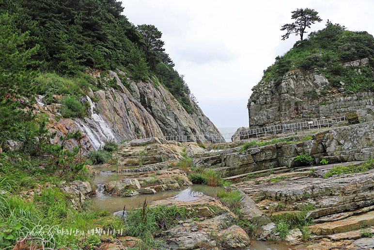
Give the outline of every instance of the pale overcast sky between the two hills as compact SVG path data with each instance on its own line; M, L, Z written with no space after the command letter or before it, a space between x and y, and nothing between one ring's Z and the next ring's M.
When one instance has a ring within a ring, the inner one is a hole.
M351 31L374 34L373 0L122 0L124 15L135 25L153 24L164 48L185 76L204 114L217 127L248 126L251 88L277 55L290 50L299 36L282 41L282 25L291 11L316 10ZM305 36L304 36L305 37Z

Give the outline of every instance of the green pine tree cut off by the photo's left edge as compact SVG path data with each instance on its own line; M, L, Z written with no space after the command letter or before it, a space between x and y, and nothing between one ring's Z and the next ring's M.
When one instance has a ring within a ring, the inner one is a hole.
M19 109L19 99L30 97L34 72L27 69L27 60L38 46L25 48L28 33L14 32L15 16L0 15L0 145L13 138L27 116Z

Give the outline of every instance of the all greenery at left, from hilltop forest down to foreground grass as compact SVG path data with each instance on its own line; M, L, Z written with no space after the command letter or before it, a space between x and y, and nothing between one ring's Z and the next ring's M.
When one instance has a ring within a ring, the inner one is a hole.
M84 157L79 131L67 131L57 139L60 144L51 143L57 136L47 130L50 117L33 115L36 94L46 96L45 104L56 101L54 95L63 96L59 112L64 118L85 117L90 107L78 99L89 89L118 88L108 72L120 70L126 73L119 74L125 87L127 78L156 77L155 84L163 84L188 113L193 112L188 86L162 48L162 33L153 25L134 26L122 15L121 4L0 0L0 249L13 249L18 240L15 249L20 250L97 249L101 244L97 234L80 238L58 229L124 229L120 219L94 209L90 201L79 200L77 211L69 201L71 195L59 188L75 180L91 181L87 164L116 164L112 153L117 144L108 141L103 150ZM98 74L102 77L93 77ZM79 145L68 148L69 139ZM131 226L124 229L126 235L135 232Z

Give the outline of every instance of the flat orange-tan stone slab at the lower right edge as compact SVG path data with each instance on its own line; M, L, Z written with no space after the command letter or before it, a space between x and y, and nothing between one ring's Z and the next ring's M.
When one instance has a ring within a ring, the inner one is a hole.
M308 232L316 235L329 235L357 230L365 226L374 226L374 211L343 220L315 224L309 227Z

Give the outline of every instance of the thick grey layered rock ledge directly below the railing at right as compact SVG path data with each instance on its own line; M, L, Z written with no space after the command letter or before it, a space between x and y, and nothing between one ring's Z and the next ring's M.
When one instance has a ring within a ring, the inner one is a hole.
M309 137L307 137L309 136ZM309 154L311 164L322 159L330 163L363 161L374 157L374 122L366 122L305 135L293 136L292 141L240 151L241 147L222 150L215 155L194 159L196 166L213 167L226 176L282 167L298 167L297 155Z

